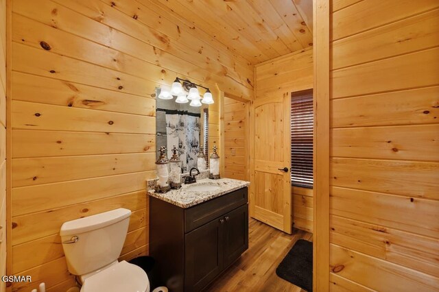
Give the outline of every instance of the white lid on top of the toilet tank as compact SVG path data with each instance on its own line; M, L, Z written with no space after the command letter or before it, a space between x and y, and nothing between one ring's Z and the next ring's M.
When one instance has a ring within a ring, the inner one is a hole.
M67 221L61 226L60 236L80 234L91 230L104 228L105 226L110 226L130 217L130 215L131 210L119 208L97 215Z

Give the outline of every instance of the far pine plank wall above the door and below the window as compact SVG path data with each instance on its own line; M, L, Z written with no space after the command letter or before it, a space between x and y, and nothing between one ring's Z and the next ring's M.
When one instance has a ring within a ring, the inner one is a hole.
M291 95L294 91L313 88L312 47L257 64L255 80L255 98ZM292 196L294 227L312 232L312 189L294 187Z

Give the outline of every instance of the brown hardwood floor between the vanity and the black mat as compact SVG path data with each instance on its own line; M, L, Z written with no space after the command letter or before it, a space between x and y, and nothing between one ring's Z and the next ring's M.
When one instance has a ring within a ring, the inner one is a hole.
M289 235L250 218L248 236L248 250L206 291L305 291L279 278L276 267L298 239L312 241L311 233L294 229Z

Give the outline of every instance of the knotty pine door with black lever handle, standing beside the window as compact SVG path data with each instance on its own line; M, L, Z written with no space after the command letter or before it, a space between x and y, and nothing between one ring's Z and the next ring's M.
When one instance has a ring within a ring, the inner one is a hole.
M285 94L255 99L250 110L250 216L289 234L290 108L290 97Z

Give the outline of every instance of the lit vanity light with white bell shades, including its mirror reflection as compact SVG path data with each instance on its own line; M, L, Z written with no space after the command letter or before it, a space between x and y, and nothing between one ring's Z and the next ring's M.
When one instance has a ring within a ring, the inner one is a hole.
M202 87L206 89L206 93L204 93L203 97L200 97L200 93L198 92L198 87ZM189 90L188 95L186 95L185 90ZM189 80L183 80L181 78L176 77L176 80L172 82L171 88L168 86L162 86L161 92L158 95L159 99L173 99L176 96L176 103L178 104L186 104L191 101L189 106L202 106L203 104L213 104L213 97L211 90L209 88L204 87L200 84L195 84L190 82Z

